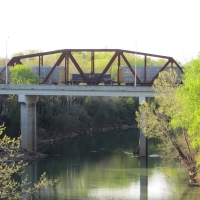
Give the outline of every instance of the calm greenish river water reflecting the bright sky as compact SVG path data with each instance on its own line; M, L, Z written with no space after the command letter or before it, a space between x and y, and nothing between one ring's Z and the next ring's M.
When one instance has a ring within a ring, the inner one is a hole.
M188 186L187 173L178 163L162 165L155 140L149 156L133 156L138 130L82 136L43 147L50 156L32 163L25 173L37 180L59 177L61 185L41 191L40 200L197 200L200 188Z

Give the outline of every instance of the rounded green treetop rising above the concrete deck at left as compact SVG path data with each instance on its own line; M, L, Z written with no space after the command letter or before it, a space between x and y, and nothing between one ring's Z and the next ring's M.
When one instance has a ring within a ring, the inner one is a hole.
M40 77L36 75L31 68L24 65L16 65L10 68L12 84L39 84L41 83Z

